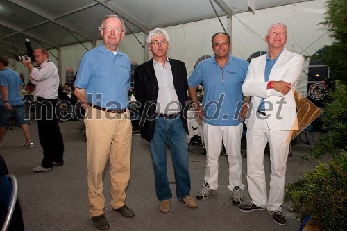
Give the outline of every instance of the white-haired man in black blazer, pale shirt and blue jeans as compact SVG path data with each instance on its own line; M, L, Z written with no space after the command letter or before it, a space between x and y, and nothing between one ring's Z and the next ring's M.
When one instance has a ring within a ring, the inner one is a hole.
M190 196L188 169L187 70L184 62L167 58L169 41L164 29L150 31L146 43L153 58L134 73L135 98L141 103L141 137L149 142L161 212L169 212L172 198L167 178L167 140L174 162L176 196L188 207L197 207Z

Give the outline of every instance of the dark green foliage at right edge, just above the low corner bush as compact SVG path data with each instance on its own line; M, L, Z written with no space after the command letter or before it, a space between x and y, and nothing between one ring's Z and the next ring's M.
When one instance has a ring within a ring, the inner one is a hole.
M346 86L336 82L335 90L328 92L329 103L325 103L321 120L326 132L319 138L319 143L312 149L311 155L319 159L323 155L334 156L339 151L346 151L347 144L347 92Z

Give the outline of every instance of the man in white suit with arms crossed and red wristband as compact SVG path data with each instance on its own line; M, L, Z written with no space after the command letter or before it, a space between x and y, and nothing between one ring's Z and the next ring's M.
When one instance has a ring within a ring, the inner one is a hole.
M273 220L285 225L281 212L285 191L286 163L291 131L298 130L294 87L303 69L302 55L285 49L287 26L269 27L265 42L269 52L254 58L248 67L242 92L251 96L247 126L247 184L251 201L240 205L243 212L267 209ZM271 175L266 196L264 148L270 146Z

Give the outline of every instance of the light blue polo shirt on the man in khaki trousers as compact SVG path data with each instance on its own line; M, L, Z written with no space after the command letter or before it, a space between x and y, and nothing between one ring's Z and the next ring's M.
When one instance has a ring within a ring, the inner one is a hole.
M87 51L78 66L75 87L85 89L87 102L108 109L128 106L130 59L125 53L108 51L101 44Z

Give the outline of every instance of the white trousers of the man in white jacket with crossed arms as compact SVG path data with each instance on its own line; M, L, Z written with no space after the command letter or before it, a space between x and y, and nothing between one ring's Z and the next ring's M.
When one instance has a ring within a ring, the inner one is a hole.
M252 202L259 207L267 207L269 211L281 211L285 192L285 172L289 145L285 144L289 131L269 130L266 120L257 119L256 129L247 130L247 184ZM264 149L270 146L270 192L266 194L264 171Z

